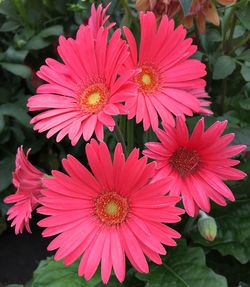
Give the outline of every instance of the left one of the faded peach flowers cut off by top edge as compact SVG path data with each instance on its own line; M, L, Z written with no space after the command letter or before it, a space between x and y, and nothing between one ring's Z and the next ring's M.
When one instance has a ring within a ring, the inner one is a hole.
M138 11L152 11L158 19L163 15L173 18L180 9L179 0L137 0Z

